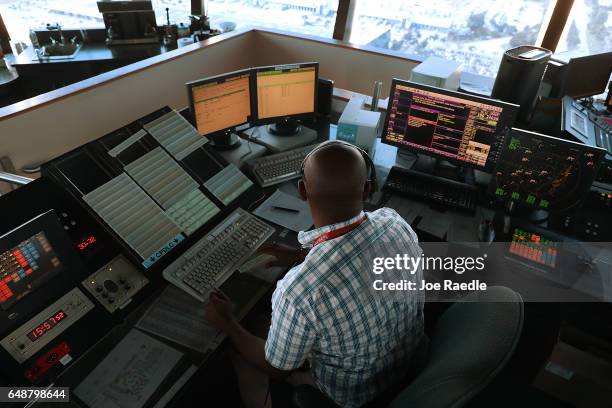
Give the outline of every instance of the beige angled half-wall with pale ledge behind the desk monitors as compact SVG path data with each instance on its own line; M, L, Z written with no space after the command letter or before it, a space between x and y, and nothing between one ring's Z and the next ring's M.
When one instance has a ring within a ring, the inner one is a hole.
M0 156L9 156L17 169L44 162L164 105L185 107L190 80L309 60L319 61L320 75L339 88L371 94L374 81L382 80L383 98L391 78L407 78L418 63L270 30L223 34L0 109Z

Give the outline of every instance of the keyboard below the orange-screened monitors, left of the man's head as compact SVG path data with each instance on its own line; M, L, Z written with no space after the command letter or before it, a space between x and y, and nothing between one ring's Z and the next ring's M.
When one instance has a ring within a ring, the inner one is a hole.
M247 166L257 184L269 187L299 178L304 157L317 146L318 143L249 160Z

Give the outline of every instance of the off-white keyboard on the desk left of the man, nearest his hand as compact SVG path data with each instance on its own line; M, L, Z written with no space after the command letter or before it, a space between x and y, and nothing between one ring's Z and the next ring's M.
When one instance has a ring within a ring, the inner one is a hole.
M164 278L205 302L273 233L272 226L238 208L164 269Z

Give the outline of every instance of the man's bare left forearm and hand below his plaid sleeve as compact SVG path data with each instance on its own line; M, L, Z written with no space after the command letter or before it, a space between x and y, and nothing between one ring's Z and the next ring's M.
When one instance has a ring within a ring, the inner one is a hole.
M266 340L242 327L234 317L231 301L225 294L220 291L213 292L206 312L209 322L229 337L246 361L274 378L286 377L291 373L275 368L266 360Z

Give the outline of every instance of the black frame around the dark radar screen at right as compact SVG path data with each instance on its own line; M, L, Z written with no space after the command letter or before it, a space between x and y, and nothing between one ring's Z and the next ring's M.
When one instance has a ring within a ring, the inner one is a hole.
M581 150L583 152L586 151L591 151L594 152L595 154L599 155L598 161L597 161L597 165L593 171L593 177L591 179L591 182L588 184L588 186L585 186L583 190L581 190L582 194L580 194L580 199L571 207L568 208L558 208L556 206L553 205L553 203L551 203L551 206L546 209L545 211L548 212L552 212L552 213L564 213L570 210L574 210L576 208L580 208L582 206L582 204L584 203L584 201L587 198L587 192L589 191L589 189L593 186L593 182L597 179L597 174L599 173L599 170L601 169L604 157L606 155L606 150L601 148L601 147L596 147L596 146L591 146L591 145L587 145L584 143L580 143L580 142L575 142L573 140L568 140L568 139L561 139L559 137L554 137L554 136L549 136L549 135L545 135L542 133L537 133L537 132L533 132L530 130L525 130L525 129L520 129L520 128L515 128L512 127L508 130L508 134L506 136L506 140L504 141L504 149L506 148L506 146L508 145L508 143L510 143L510 137L512 133L521 133L525 136L529 136L529 137L533 137L533 138L543 138L543 139L548 139L548 140L552 140L555 142L561 142L561 143L565 143L568 145L572 145L574 146L576 149ZM502 154L503 154L503 150L502 150ZM494 199L497 202L505 202L505 203L514 203L514 205L517 205L519 207L525 208L525 209L529 209L529 210L542 210L542 208L539 208L537 206L534 205L530 205L527 204L525 201L516 201L516 200L511 200L511 199L505 199L505 198L500 198L498 196L495 195L495 187L497 186L497 182L496 182L496 174L497 174L497 170L498 170L498 166L499 164L496 164L494 172L491 176L491 180L489 181L489 185L487 186L487 195L489 197L491 197L492 199Z

